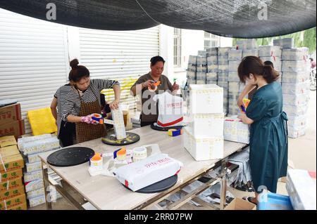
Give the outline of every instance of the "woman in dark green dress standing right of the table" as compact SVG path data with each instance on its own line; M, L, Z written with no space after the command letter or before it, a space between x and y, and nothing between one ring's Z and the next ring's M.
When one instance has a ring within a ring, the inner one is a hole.
M264 65L258 57L247 56L238 74L240 81L247 82L246 89L259 86L246 113L239 117L251 125L249 163L256 192L256 197L244 199L257 204L259 193L276 192L278 178L287 174L287 115L282 112L282 88L273 67Z

